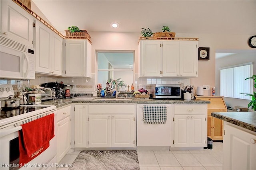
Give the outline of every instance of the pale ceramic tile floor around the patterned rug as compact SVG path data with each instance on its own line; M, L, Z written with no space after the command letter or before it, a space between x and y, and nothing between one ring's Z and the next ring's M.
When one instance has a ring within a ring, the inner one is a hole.
M222 143L214 142L213 149L137 151L140 170L222 170ZM80 151L68 153L59 164L72 164ZM57 168L68 170L68 168Z

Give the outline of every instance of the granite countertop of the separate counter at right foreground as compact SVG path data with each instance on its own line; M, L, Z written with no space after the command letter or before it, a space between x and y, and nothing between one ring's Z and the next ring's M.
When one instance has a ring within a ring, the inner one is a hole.
M212 116L256 132L256 112L213 112Z

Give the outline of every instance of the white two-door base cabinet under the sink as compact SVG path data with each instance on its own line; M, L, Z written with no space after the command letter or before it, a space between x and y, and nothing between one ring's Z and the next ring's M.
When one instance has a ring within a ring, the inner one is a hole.
M136 147L136 104L88 105L88 147Z

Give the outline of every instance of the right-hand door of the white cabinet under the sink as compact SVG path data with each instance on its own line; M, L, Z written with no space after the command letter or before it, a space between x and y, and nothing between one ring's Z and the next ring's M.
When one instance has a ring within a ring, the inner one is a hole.
M111 147L136 147L134 139L134 116L111 116Z

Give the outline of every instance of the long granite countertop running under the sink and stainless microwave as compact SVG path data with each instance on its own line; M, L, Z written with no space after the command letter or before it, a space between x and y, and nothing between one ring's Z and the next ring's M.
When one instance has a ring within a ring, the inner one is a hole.
M101 98L102 99L102 98ZM122 98L125 99L125 98ZM57 99L57 100L48 100L42 102L42 105L54 105L57 108L62 107L72 103L136 103L136 104L208 104L209 101L204 100L156 100L156 99L136 99L136 98L127 98L131 100L113 100L110 99L102 99L102 100L94 100L94 99Z

